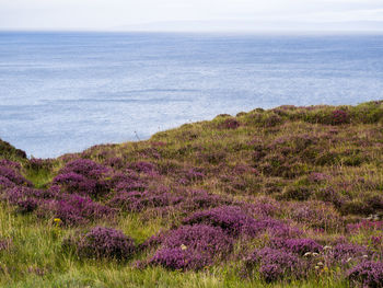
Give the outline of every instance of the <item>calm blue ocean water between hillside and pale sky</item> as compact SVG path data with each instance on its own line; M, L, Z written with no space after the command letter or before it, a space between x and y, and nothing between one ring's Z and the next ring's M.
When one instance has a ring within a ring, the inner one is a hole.
M0 33L0 138L39 158L221 113L382 99L382 35Z

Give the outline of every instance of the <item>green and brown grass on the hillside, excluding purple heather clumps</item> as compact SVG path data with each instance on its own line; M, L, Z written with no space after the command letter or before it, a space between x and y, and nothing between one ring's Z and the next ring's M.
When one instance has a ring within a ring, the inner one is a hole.
M340 119L333 112L346 112ZM255 110L236 117L220 115L211 122L183 125L159 133L151 139L121 145L104 145L71 155L49 160L49 165L34 166L18 150L0 157L19 161L24 175L36 187L44 188L66 162L88 158L100 163L119 158L124 162L154 163L161 177L151 185L205 189L229 195L237 200L256 201L260 196L281 204L281 219L291 218L288 205L313 200L332 212L329 219L297 221L307 235L320 240L344 234L349 241L365 243L371 233L346 234L345 224L369 215L382 216L383 199L383 103L359 106L279 107ZM1 146L2 143L0 143ZM5 151L5 149L4 149ZM196 169L202 180L179 182L181 171ZM312 172L325 180L311 181ZM328 193L333 191L332 198ZM378 200L376 200L378 199ZM292 206L293 207L293 206ZM325 210L327 211L327 210ZM336 218L333 218L336 216ZM138 243L161 229L179 223L183 214L175 210L162 216L155 209L140 214L120 214L105 224L123 230ZM337 218L338 217L338 218ZM93 227L96 223L91 223ZM88 228L89 228L88 227ZM324 232L315 234L314 228ZM170 272L161 267L136 269L131 263L83 262L61 251L61 240L81 228L57 228L49 219L20 215L5 203L0 209L0 238L10 238L12 249L0 251L1 287L267 287L257 278L240 276L240 261L234 258L204 272ZM144 258L141 253L135 257ZM299 283L277 283L272 287L348 287L334 274Z

